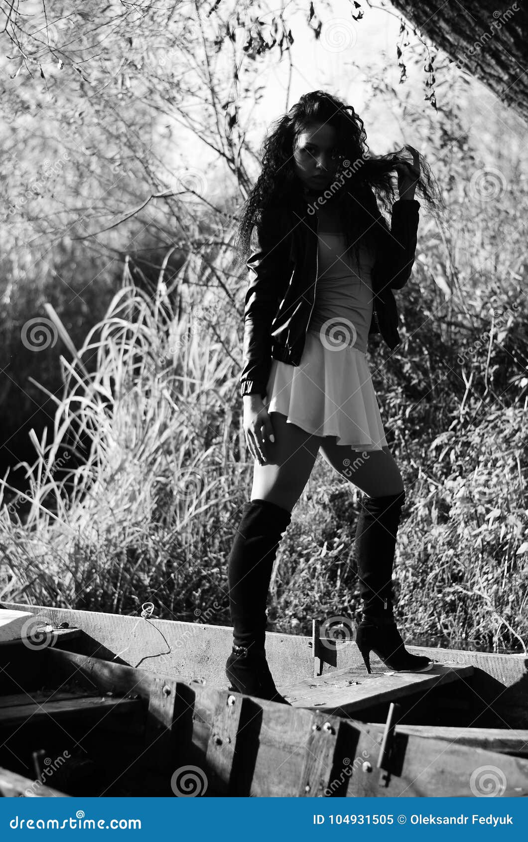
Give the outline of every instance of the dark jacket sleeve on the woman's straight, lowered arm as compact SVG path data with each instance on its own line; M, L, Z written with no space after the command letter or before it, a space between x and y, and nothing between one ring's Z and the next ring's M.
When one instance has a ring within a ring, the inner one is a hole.
M291 253L291 229L280 210L266 210L253 226L248 290L244 306L241 394L266 395L271 369L271 322L284 297Z

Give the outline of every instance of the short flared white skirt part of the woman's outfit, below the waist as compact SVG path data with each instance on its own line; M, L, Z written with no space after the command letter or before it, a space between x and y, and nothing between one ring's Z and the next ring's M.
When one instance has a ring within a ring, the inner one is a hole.
M352 450L387 445L365 352L326 347L319 331L307 331L299 365L272 360L264 406L307 433L336 435Z

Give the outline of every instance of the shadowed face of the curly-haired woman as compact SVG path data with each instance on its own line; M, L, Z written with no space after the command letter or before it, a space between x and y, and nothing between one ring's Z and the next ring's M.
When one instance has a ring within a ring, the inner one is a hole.
M305 187L322 190L330 184L339 163L335 142L335 129L324 123L312 123L298 136L294 168Z

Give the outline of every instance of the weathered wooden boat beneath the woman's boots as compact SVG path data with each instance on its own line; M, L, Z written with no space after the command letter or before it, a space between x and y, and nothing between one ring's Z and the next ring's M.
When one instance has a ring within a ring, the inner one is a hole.
M144 607L1 606L0 793L528 794L524 655L408 647L434 669L373 657L369 675L314 622L311 638L267 634L285 706L227 690L231 628Z

